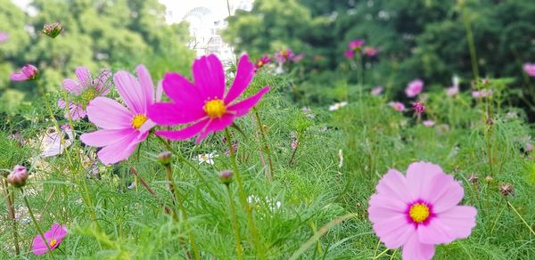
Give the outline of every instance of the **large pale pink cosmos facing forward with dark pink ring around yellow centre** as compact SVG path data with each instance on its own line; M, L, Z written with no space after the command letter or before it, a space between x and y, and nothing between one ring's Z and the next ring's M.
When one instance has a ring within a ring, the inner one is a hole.
M431 259L437 244L467 238L475 226L474 207L457 206L465 191L434 164L416 162L407 176L391 169L376 187L368 214L387 248L403 247L403 259Z

